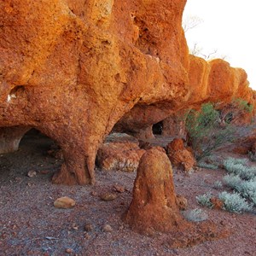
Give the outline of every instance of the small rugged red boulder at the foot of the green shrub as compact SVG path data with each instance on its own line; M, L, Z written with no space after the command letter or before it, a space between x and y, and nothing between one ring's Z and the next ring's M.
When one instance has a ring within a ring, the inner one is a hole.
M195 166L195 157L189 148L185 148L183 140L176 138L166 147L167 155L174 166L181 166L188 172Z

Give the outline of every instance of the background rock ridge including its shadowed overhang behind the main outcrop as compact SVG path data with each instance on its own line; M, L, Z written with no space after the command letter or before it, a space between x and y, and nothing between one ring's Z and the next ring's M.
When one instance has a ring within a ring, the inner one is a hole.
M189 91L185 104L166 101L149 106L136 105L125 113L115 127L143 139L140 131L146 131L148 127L164 120L163 135L173 136L184 131L184 124L179 121L183 113L189 112L191 108L200 108L202 103L218 102L219 107L224 108L234 98L241 98L255 105L254 92L248 87L247 73L241 68L230 67L227 61L206 61L189 55L188 75Z

